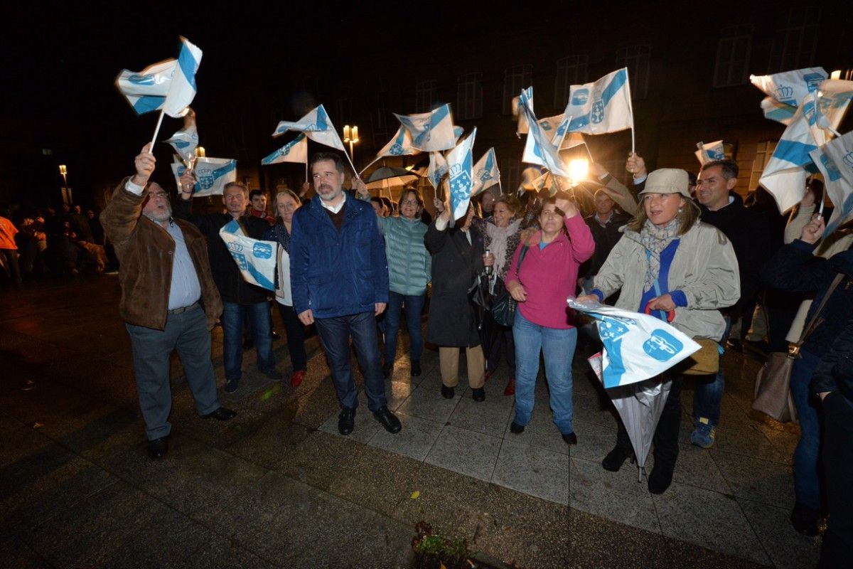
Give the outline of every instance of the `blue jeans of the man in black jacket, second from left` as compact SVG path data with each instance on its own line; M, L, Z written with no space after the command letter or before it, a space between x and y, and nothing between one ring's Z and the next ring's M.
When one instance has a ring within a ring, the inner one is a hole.
M255 340L258 351L258 369L276 369L276 357L272 354L272 332L270 331L270 303L266 300L254 305L236 302L222 303L223 368L226 380L239 380L243 367L243 322L248 319L249 334Z

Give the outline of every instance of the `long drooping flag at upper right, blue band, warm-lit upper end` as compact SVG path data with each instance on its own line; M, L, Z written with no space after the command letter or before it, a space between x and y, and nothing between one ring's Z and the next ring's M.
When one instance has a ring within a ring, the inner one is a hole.
M815 168L809 153L829 140L827 128L838 128L851 96L853 81L827 79L819 90L806 94L797 107L759 180L773 195L780 212L803 199L807 177L804 166Z

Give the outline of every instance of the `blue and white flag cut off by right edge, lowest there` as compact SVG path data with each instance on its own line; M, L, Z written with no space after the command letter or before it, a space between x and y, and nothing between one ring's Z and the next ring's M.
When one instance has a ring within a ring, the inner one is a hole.
M835 206L824 233L830 235L853 219L853 131L815 148L809 154L823 174L827 195Z

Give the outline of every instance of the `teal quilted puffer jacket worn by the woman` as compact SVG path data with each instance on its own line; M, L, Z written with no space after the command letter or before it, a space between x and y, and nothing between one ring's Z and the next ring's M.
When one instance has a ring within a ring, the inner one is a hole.
M417 296L427 292L432 257L424 245L427 226L421 218L377 218L385 235L388 282L392 292Z

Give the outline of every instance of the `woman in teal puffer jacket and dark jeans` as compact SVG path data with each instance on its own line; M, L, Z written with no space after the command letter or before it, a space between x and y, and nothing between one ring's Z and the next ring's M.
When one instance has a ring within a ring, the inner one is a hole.
M424 200L415 188L403 189L397 202L398 216L376 218L388 258L388 307L385 312L385 363L382 371L386 377L394 368L397 353L397 332L400 314L405 311L409 328L409 360L411 374L421 374L421 312L427 299L432 258L424 246L427 226L421 222Z

